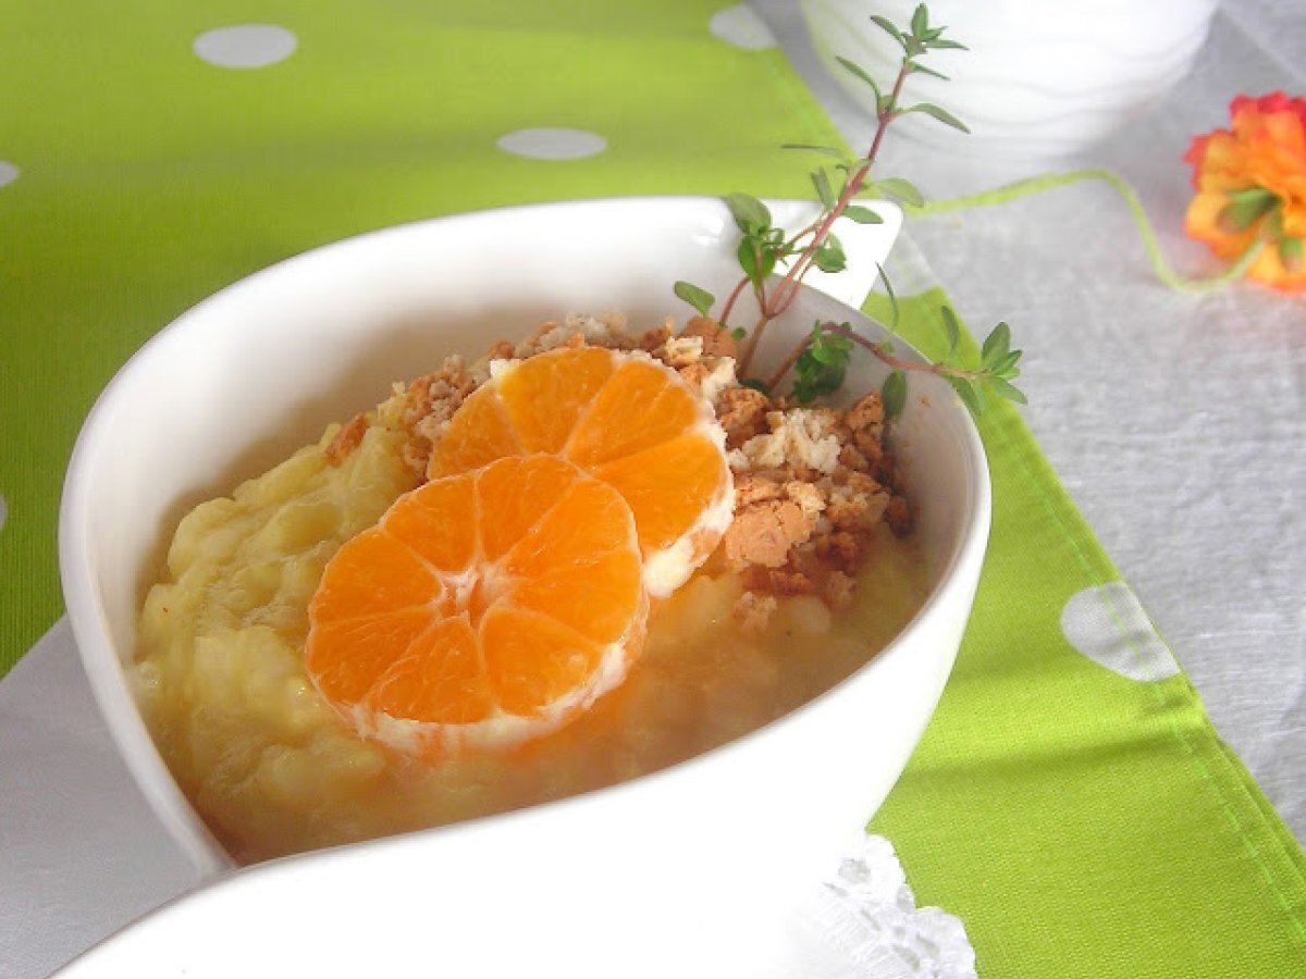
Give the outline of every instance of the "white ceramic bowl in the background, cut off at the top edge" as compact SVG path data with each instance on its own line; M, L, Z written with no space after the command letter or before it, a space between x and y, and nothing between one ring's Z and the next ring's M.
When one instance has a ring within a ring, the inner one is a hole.
M883 86L902 50L870 14L899 25L918 0L801 0L812 47L831 77L872 111L870 87L842 68L849 57ZM1053 161L1084 149L1156 108L1188 73L1207 39L1216 0L934 0L930 21L968 51L934 51L925 64L951 81L913 74L908 104L934 102L970 134L912 114L895 131L969 157Z

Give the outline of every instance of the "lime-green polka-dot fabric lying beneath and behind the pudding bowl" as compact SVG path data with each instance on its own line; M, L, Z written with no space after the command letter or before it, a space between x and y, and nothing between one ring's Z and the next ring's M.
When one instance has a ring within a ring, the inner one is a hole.
M55 523L77 428L159 326L255 269L368 228L632 193L806 194L785 142L838 142L778 50L709 0L10 4L0 18L0 672L60 615ZM291 29L285 61L191 50ZM607 150L537 161L530 127ZM942 294L904 303L930 346ZM1037 406L1032 410L1038 410ZM1118 578L1007 406L982 424L995 523L956 674L872 826L981 975L1306 974L1299 847L1182 676L1075 651L1068 597Z

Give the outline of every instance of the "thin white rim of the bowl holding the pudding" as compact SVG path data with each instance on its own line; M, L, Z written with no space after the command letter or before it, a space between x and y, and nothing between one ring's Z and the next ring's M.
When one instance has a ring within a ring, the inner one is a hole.
M422 218L411 222L402 222L392 226L377 227L350 235L338 240L328 241L304 252L282 258L248 275L230 282L219 290L200 299L188 307L149 339L146 339L131 358L128 358L114 373L110 381L101 390L89 410L65 469L63 492L59 508L57 523L57 553L60 583L64 593L65 608L73 637L77 644L82 667L90 681L91 692L106 721L110 735L114 738L120 757L127 764L140 791L150 804L151 811L163 824L171 839L185 854L195 867L199 878L212 878L225 871L238 868L239 864L229 855L202 817L195 809L191 800L182 791L176 778L163 761L158 747L154 743L141 715L136 700L129 689L124 664L111 640L108 615L101 600L99 590L94 585L95 553L93 534L90 533L89 500L91 493L90 480L86 470L91 465L93 452L98 452L98 445L111 431L118 410L118 401L121 392L133 382L135 376L146 369L157 358L166 355L168 347L183 342L196 328L196 321L201 320L201 313L209 307L225 302L226 296L238 290L248 288L252 283L268 277L282 274L289 269L298 268L304 262L315 261L324 253L334 253L346 248L366 248L370 241L385 239L396 234L413 234L431 226L448 226L466 221L504 219L515 213L547 213L569 211L575 209L609 209L614 206L636 208L691 208L687 213L696 213L696 209L710 204L721 205L720 197L699 194L662 194L662 196L620 196L596 197L581 200L550 201L542 204L504 205L475 211L448 214L440 217ZM772 204L768 200L768 204ZM781 205L806 205L806 201L776 201ZM875 201L876 206L884 202ZM892 234L896 234L896 222L901 221L901 213L893 205L888 205L892 217ZM810 285L804 288L815 290ZM827 296L828 298L828 296ZM835 299L833 302L841 302ZM852 307L849 307L852 308ZM857 312L853 309L853 312ZM202 326L202 321L200 322ZM917 356L909 345L901 343L901 351L910 356ZM567 796L559 800L541 803L528 807L525 811L511 813L498 813L485 818L498 818L500 816L515 816L541 808L562 807L577 804L589 796L628 790L635 785L644 785L650 781L670 777L673 773L687 766L705 764L707 758L716 757L722 752L744 748L764 732L781 731L797 719L808 713L823 700L840 696L859 677L876 672L878 663L887 662L904 645L904 637L913 632L922 621L939 617L944 614L944 607L964 600L969 610L974 582L972 577L978 577L978 568L983 560L987 544L989 527L991 521L991 484L989 476L987 458L983 443L969 412L957 402L953 410L965 415L966 424L961 427L964 440L964 478L965 478L965 508L959 523L956 539L951 542L949 552L940 561L935 585L931 587L925 600L917 608L912 619L899 630L899 633L865 666L855 670L842 681L804 702L799 707L785 715L763 724L742 738L733 739L726 744L701 752L684 761L677 762L665 769L660 769L633 779L618 782L615 785L582 792L576 796ZM973 574L972 574L973 572ZM968 594L968 591L970 594ZM951 667L949 667L951 668ZM414 833L432 833L447 829L444 826L428 830L415 830ZM410 834L402 834L410 835ZM333 847L336 848L336 847Z

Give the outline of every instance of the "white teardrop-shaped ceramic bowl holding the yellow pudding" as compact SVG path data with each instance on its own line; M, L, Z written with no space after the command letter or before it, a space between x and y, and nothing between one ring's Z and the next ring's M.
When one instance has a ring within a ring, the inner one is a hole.
M899 211L876 206L884 225L841 232L858 272L820 279L842 299L867 291L897 231ZM773 211L795 227L807 208L776 202ZM752 931L757 915L776 912L803 882L831 869L892 787L934 710L987 539L989 478L978 436L951 390L931 379L913 379L900 423L934 574L925 607L888 649L827 694L661 773L534 809L232 873L165 768L124 677L146 568L195 503L227 492L315 439L328 422L375 403L393 380L449 352L481 351L571 311L619 308L635 322L658 322L669 312L683 317L687 308L671 283L686 278L724 294L737 268L734 234L721 201L686 197L504 209L377 231L218 292L119 372L69 465L60 564L68 615L108 727L193 862L197 884L206 885L165 911L166 920L189 920L193 909L217 902L240 909L248 919L239 925L243 935L266 932L283 915L263 902L283 899L273 898L281 886L308 882L296 906L313 915L315 928L364 935L366 914L341 898L362 888L370 909L389 909L372 920L376 928L384 920L390 931L413 898L427 922L418 935L426 940L438 929L441 948L466 946L469 956L490 923L529 933L547 956L549 923L556 940L572 933L568 923L584 920L597 969L650 920L684 933L708 915L718 935L729 933L731 922ZM836 299L804 290L773 328L771 349L781 347L782 334L810 329L814 317L858 319ZM874 359L866 362L855 384L883 376ZM422 873L410 872L415 863ZM88 961L103 962L97 956L129 945L132 933ZM206 975L202 970L231 965L223 956L240 954L221 945L151 948L182 957L167 959L170 969L184 965ZM502 957L520 952L500 941L487 959L485 944L479 948L475 962L486 974L494 972L487 963L507 967ZM392 952L398 954L397 946ZM579 962L575 954L569 961Z

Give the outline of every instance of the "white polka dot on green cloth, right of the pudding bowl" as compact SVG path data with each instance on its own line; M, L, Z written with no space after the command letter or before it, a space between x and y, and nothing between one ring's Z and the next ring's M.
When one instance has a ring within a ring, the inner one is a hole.
M1123 581L1087 587L1062 608L1062 632L1076 650L1131 680L1164 680L1179 672L1161 637Z

